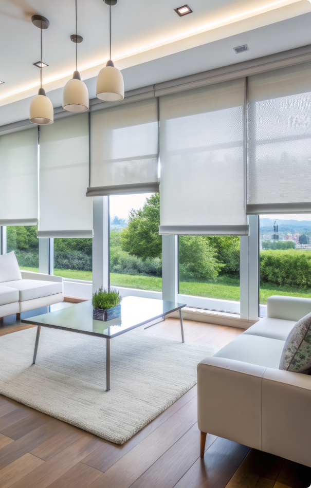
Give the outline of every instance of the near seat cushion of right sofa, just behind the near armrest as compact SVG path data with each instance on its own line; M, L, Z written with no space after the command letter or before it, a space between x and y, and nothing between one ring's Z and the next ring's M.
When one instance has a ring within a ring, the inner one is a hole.
M284 344L285 341L279 339L241 334L214 356L279 369Z

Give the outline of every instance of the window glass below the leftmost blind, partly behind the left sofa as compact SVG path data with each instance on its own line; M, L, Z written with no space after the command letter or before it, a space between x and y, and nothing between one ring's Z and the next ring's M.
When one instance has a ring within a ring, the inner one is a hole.
M7 252L14 251L20 269L39 272L39 239L36 226L8 226Z

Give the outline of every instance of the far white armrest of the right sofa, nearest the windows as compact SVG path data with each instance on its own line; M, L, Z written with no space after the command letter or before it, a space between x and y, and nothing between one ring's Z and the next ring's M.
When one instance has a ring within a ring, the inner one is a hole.
M299 321L311 312L311 298L272 295L268 298L267 316Z

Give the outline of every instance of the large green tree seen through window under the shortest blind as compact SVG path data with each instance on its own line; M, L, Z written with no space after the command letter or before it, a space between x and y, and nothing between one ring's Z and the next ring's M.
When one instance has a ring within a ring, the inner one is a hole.
M131 210L129 223L121 231L121 248L142 259L160 257L162 236L159 235L160 196L147 198L142 209Z

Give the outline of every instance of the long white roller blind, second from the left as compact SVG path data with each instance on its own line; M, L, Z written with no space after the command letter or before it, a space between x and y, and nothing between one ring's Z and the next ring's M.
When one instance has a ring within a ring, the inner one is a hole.
M39 237L92 237L88 184L88 114L40 127Z

